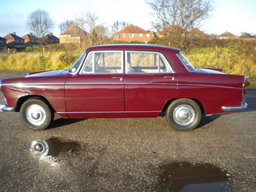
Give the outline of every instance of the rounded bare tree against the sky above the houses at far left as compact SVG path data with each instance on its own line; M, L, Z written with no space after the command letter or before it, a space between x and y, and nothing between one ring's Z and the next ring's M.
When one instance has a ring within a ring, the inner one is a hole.
M53 20L50 14L44 10L38 9L29 14L27 18L27 27L34 32L35 36L42 38L53 28Z

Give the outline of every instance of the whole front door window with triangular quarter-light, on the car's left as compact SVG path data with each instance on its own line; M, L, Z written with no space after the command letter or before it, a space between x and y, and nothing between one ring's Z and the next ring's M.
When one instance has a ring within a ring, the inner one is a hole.
M122 52L107 51L91 53L82 73L123 73Z

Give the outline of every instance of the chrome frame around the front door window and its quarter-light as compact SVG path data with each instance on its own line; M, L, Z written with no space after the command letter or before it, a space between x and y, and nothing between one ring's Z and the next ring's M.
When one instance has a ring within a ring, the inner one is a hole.
M94 53L121 53L121 73L94 73ZM89 57L90 57L90 55L91 54L93 54L93 72L92 73L84 73L84 72L82 72L83 71L83 69L86 67L86 62L87 62L87 60L89 59ZM82 65L82 67L81 67L81 69L80 69L80 72L79 72L79 74L123 74L123 51L121 50L108 50L108 51L91 51L91 52L89 52L88 53L88 56L86 57L86 60L84 60L84 62L83 62L83 65Z

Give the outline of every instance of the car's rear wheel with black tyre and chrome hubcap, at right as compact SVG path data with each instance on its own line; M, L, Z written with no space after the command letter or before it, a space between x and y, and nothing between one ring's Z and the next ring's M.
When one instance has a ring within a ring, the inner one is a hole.
M166 110L166 120L178 131L194 130L199 124L202 113L199 105L192 99L176 99Z

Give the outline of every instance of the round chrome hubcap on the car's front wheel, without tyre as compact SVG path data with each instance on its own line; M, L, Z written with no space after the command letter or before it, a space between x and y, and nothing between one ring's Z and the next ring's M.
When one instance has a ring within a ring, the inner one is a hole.
M40 105L32 104L26 111L26 118L33 125L41 125L46 120L46 111Z

